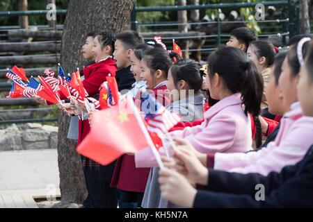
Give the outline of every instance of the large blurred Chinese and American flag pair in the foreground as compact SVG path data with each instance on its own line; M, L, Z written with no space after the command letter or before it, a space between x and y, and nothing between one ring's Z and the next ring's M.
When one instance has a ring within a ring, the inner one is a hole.
M147 147L152 148L157 157L159 153L155 152L163 146L163 138L180 118L146 91L142 92L142 103L145 119L128 97L111 108L95 112L90 133L77 147L77 152L103 165L122 154L136 153ZM131 107L134 109L129 110Z

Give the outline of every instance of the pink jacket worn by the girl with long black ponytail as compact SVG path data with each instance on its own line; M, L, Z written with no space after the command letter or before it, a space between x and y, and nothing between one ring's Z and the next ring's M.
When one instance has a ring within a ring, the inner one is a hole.
M186 127L170 135L187 139L201 153L238 153L252 148L251 122L243 112L241 94L227 96L204 113L199 126ZM170 151L170 148L168 148ZM160 154L164 155L163 148ZM136 167L157 167L150 148L135 153Z

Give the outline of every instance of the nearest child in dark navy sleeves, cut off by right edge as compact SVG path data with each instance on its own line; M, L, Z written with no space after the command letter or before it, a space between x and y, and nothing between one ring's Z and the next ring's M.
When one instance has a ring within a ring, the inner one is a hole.
M300 80L298 82L298 98L303 110L303 121L313 118L313 42L310 42L310 52L303 64L303 51L298 48L298 58L301 64ZM301 62L302 60L302 62ZM202 171L196 158L177 152L176 156L184 162L184 175L188 179L193 176L195 182L204 185L197 191L188 180L174 170L160 171L162 196L185 207L313 207L312 196L312 164L313 146L300 162L284 167L280 173L271 172L268 176L259 173L227 173L223 171ZM200 176L200 174L202 176ZM256 185L264 185L266 192L262 199L256 195ZM258 197L258 198L256 198ZM262 200L262 201L260 201Z

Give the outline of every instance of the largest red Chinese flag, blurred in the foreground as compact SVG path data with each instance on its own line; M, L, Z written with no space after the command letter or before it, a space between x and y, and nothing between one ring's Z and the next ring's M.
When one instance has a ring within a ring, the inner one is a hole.
M125 99L119 105L95 112L90 133L77 147L77 153L107 165L122 154L149 147L135 115L125 109L127 105Z

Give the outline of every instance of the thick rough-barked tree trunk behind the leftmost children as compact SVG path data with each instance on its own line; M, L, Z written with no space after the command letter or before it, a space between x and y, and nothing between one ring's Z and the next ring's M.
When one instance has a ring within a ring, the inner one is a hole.
M72 72L82 65L81 46L90 32L122 31L133 8L134 0L71 0L63 29L61 65ZM81 203L86 186L81 170L77 143L67 139L70 118L61 114L58 121L58 168L60 171L61 203Z

